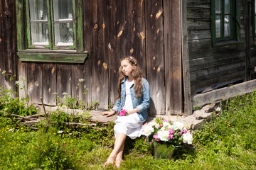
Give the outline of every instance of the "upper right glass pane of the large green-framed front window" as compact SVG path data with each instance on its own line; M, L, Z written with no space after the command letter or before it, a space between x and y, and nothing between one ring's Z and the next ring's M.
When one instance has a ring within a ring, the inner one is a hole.
M72 20L72 0L53 0L54 21Z

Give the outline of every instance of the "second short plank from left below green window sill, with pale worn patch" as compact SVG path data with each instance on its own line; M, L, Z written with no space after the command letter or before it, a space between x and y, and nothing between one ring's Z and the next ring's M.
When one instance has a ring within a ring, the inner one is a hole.
M31 103L41 103L43 96L43 64L27 64L28 97Z

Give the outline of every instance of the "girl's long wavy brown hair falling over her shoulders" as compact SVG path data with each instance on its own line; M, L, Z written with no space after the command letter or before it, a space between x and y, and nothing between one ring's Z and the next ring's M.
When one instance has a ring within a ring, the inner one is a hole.
M132 78L134 79L134 91L138 98L139 96L142 96L142 77L144 77L144 75L142 73L142 68L139 67L137 60L132 56L122 57L120 60L120 63L123 60L127 60L129 62L129 64L132 65ZM122 67L120 66L119 67L119 79L118 79L118 85L117 85L117 91L118 91L117 98L119 100L121 98L121 82L124 78L126 78L126 76L122 72Z

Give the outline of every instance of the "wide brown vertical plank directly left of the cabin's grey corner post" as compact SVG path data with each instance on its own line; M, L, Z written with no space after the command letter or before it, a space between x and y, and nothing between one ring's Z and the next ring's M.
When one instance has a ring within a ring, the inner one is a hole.
M182 112L181 4L164 0L166 114Z

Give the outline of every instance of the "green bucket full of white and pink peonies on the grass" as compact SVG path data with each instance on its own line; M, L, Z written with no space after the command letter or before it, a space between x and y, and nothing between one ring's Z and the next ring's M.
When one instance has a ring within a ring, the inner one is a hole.
M154 142L156 159L170 159L177 147L190 145L193 142L193 136L184 128L183 123L177 121L171 124L166 119L160 118L145 123L142 126L142 135Z

